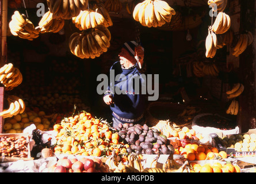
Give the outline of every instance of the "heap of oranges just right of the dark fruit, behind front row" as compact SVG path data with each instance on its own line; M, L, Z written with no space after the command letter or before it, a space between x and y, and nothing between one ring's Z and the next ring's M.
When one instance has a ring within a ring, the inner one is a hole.
M216 147L212 147L210 144L199 144L197 142L186 144L185 147L179 147L175 150L175 154L184 155L189 161L227 158L226 152L219 152Z

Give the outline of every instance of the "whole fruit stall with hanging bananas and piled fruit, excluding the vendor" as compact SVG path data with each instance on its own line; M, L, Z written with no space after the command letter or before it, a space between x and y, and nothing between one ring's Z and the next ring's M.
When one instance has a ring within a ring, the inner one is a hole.
M256 173L250 3L1 0L0 173ZM129 40L159 98L114 128L97 76Z

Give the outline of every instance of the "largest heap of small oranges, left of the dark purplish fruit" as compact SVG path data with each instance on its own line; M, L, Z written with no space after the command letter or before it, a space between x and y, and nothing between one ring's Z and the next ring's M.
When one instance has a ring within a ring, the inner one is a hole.
M94 118L90 113L64 117L54 125L57 144L55 154L75 154L84 156L127 155L128 144L119 141L119 134L112 132L107 122Z

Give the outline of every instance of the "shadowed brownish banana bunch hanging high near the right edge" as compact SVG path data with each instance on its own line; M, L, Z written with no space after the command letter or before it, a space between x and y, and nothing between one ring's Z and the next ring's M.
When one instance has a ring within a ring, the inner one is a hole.
M239 39L232 48L232 55L238 57L251 43L253 43L253 34L250 31L239 34Z

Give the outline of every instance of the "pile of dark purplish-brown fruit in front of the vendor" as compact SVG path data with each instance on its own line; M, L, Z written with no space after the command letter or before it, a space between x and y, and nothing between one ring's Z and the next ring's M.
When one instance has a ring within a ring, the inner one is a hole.
M150 128L147 124L119 124L119 136L125 144L129 144L127 152L136 154L171 154L174 148L165 135L158 129Z

